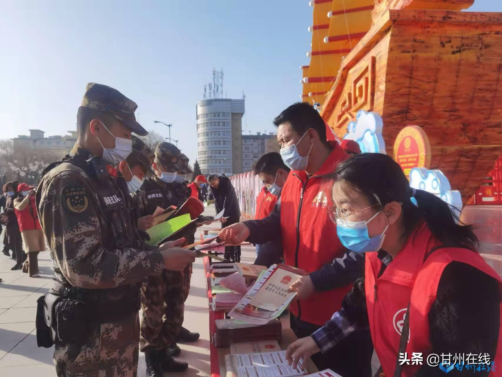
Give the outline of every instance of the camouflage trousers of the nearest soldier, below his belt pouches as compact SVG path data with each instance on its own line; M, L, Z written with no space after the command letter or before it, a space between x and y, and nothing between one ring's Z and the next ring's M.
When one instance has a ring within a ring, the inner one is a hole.
M136 377L139 313L117 322L96 324L85 344L56 344L59 377Z

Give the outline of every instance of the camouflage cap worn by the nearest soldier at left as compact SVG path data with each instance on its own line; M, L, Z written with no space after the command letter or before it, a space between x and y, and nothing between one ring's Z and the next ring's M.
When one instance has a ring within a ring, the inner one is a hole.
M136 102L131 101L117 89L89 82L80 106L111 114L136 134L148 135L148 131L136 121L134 115L138 108Z

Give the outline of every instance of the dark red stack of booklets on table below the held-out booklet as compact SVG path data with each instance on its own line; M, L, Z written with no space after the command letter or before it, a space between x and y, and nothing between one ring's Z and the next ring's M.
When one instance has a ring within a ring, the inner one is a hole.
M217 295L218 296L218 295ZM277 318L265 325L242 323L235 319L217 319L214 344L216 347L229 347L231 343L254 340L275 339L281 341L282 324Z

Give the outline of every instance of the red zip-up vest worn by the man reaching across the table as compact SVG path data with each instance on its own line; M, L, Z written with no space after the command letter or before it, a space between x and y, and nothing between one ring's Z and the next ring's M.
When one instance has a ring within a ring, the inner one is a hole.
M347 158L338 143L331 141L331 154L310 178L305 171L291 170L281 193L281 235L285 263L307 270L320 269L345 253L336 225L329 219L327 204L332 202L327 174ZM315 292L308 300L291 304L302 321L325 324L341 308L352 284L325 292Z

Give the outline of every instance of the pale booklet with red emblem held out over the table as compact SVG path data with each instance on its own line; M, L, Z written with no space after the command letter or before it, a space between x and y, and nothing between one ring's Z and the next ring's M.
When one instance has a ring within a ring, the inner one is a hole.
M228 316L259 325L279 317L296 295L296 292L288 292L289 288L306 274L307 271L299 268L273 264Z

